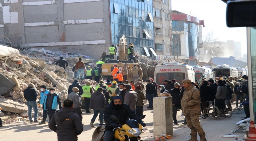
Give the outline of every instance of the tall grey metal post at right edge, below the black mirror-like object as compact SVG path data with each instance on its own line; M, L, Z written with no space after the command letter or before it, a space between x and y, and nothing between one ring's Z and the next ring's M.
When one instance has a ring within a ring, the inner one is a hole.
M248 87L249 87L249 108L250 108L250 120L254 121L253 112L253 99L252 99L252 63L251 63L251 47L250 47L250 27L246 27L247 34L247 62L248 62Z

